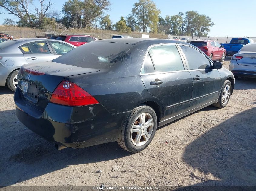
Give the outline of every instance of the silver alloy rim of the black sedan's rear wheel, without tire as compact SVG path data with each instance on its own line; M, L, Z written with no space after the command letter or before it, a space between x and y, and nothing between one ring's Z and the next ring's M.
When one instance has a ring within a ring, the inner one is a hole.
M149 113L139 115L131 128L131 142L135 146L144 145L151 137L153 127L153 118Z

